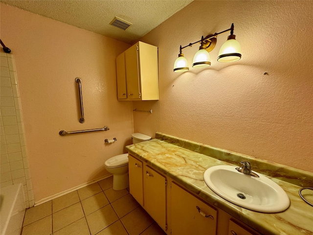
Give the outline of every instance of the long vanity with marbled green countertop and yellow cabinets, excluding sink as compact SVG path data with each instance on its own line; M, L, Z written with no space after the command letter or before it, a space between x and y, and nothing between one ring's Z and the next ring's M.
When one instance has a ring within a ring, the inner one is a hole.
M313 184L310 172L161 133L127 148L130 193L168 235L313 234L313 208L298 194L299 188ZM240 165L243 159L286 191L291 200L287 210L250 211L207 187L203 180L207 168Z

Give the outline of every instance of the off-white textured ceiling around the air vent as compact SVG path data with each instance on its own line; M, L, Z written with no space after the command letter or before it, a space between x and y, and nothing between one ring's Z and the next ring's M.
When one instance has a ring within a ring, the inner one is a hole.
M0 0L2 3L132 44L192 0ZM110 25L117 16L132 23Z

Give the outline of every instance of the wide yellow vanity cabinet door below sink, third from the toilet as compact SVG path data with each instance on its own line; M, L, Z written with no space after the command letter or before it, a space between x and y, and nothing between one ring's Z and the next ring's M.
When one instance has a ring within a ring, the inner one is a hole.
M172 235L215 235L217 210L172 182Z

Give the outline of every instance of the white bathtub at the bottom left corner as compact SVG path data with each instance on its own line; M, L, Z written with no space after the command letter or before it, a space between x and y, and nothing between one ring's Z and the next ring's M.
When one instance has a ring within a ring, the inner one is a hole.
M20 235L25 214L22 184L0 189L0 235Z

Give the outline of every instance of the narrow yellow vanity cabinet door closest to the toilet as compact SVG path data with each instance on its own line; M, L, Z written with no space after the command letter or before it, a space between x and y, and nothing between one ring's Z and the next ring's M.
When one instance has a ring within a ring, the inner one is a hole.
M128 169L130 193L143 206L142 162L128 155Z

